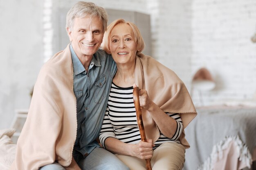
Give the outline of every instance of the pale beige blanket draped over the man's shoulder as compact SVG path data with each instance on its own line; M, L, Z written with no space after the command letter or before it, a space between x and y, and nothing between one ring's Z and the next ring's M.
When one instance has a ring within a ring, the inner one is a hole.
M40 70L11 170L37 170L55 160L69 166L76 126L73 65L68 45Z

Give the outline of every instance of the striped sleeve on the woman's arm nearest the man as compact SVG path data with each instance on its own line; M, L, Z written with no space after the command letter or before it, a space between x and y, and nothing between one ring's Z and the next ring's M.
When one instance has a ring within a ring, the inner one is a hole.
M114 128L113 128L113 126L110 122L110 119L108 117L108 113L109 113L109 109L107 107L106 112L105 112L105 116L104 116L104 119L103 119L103 123L102 123L102 126L101 126L101 132L99 134L99 141L101 142L101 144L104 148L105 148L105 140L108 137L116 138L115 133L114 133Z

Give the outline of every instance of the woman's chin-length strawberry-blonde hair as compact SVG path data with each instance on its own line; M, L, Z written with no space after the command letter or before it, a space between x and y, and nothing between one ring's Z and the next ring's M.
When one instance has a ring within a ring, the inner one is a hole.
M144 40L141 36L141 33L139 32L139 29L137 28L137 26L135 24L133 24L132 22L129 22L129 21L125 21L124 19L115 20L108 26L106 32L104 33L104 37L103 37L103 44L102 44L103 50L105 50L108 54L111 54L111 52L110 52L110 34L111 34L112 29L117 24L127 24L132 28L132 32L134 33L135 42L137 43L137 49L138 49L136 54L141 53L141 51L144 49L144 46L145 46Z

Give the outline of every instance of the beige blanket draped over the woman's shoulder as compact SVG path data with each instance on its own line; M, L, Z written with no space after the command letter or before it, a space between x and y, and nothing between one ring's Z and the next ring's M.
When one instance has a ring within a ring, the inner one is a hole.
M163 111L179 113L184 128L197 115L184 83L172 70L152 57L142 53L136 57L135 83L140 89L146 89L149 98ZM141 109L141 113L146 137L156 141L159 137L157 125L145 109ZM180 142L185 148L189 148L184 129L180 136Z

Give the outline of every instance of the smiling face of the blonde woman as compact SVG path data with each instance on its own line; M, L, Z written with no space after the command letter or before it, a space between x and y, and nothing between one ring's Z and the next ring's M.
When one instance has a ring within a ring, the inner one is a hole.
M128 24L121 23L113 27L110 33L110 52L117 65L135 63L137 43Z

